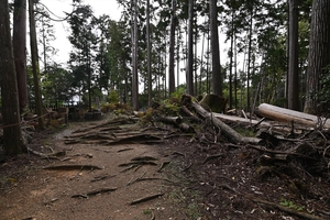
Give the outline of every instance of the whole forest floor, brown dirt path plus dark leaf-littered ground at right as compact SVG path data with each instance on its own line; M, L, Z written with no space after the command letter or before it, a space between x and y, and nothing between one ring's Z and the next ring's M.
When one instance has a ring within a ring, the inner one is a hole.
M253 150L190 135L66 143L106 120L37 132L29 144L65 155L30 153L0 164L0 219L330 219L329 174L264 170Z

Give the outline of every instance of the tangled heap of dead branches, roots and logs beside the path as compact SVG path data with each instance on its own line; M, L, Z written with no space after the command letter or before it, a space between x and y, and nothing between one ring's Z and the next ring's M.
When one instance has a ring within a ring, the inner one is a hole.
M154 105L146 112L144 122L155 129L177 129L207 146L227 143L257 151L260 156L256 160L261 166L290 164L299 166L293 169L310 175L326 175L330 180L330 132L327 129L293 121L284 123L266 118L245 119L217 113L188 95L170 105L172 108Z

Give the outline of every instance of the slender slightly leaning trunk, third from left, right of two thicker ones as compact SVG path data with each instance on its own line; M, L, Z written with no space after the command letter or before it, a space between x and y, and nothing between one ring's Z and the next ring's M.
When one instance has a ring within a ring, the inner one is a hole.
M38 55L37 55L37 43L36 43L36 32L35 32L35 19L33 10L33 0L29 0L29 19L30 19L30 42L31 42L31 61L33 68L33 84L35 90L35 108L38 117L38 129L44 130L45 123L43 120L43 107L42 107L42 96L40 90L40 67L38 67Z

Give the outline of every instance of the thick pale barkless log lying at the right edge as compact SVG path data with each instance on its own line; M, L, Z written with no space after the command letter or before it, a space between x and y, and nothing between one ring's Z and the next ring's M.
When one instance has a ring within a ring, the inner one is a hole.
M312 128L330 129L330 121L326 120L324 118L284 109L267 103L260 105L257 112L258 114L275 121L305 124Z

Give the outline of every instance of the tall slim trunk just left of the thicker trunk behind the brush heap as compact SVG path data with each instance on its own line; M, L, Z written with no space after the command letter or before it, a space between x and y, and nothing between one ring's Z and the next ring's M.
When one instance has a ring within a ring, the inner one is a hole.
M188 23L188 62L187 62L187 94L194 96L194 0L189 0L189 23Z

